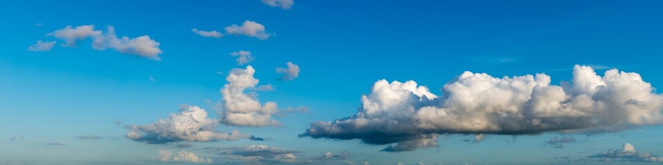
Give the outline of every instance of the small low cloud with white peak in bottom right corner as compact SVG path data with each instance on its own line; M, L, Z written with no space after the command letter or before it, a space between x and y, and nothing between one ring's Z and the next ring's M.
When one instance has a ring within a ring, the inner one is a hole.
M591 155L589 157L599 158L603 161L663 162L663 157L651 155L650 153L642 153L635 150L635 147L628 143L625 143L621 149L611 149L605 153L597 153L596 155Z

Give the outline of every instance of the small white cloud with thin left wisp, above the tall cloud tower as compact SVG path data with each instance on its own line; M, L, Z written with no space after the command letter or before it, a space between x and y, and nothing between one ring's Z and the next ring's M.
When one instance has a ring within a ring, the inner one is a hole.
M224 28L224 30L225 34L217 32L216 30L204 31L195 28L191 31L200 36L212 37L212 38L221 38L226 34L231 34L235 36L250 36L250 37L256 37L260 40L266 40L269 39L269 36L271 36L271 34L265 31L264 25L249 20L244 21L242 25L237 25L237 24L229 25L226 28Z

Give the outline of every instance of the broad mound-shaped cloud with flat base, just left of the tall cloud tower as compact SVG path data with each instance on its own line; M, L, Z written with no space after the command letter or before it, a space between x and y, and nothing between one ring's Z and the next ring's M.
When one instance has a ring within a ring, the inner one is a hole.
M157 120L148 125L124 126L131 129L126 137L136 142L162 144L167 142L212 142L216 140L249 139L251 135L233 131L218 133L213 129L218 120L207 118L207 112L200 107L182 107L180 113L173 113L165 120Z

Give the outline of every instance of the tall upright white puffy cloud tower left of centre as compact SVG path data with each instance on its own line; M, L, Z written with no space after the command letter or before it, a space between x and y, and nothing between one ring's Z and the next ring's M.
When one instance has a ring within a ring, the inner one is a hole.
M276 126L278 121L271 115L278 111L276 102L260 104L258 100L245 90L256 87L258 79L253 78L256 70L232 69L226 77L226 85L221 88L222 102L225 111L221 114L222 122L233 126ZM255 96L255 94L253 94Z

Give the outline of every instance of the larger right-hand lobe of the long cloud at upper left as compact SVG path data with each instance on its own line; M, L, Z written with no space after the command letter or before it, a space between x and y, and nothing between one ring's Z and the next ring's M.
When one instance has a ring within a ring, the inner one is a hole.
M104 34L95 36L92 43L92 47L95 48L95 50L112 49L123 54L138 55L155 61L161 59L158 56L162 53L159 49L159 45L160 43L157 43L157 41L150 39L150 36L146 35L138 36L133 39L129 39L127 36L117 38L113 26L108 26Z

